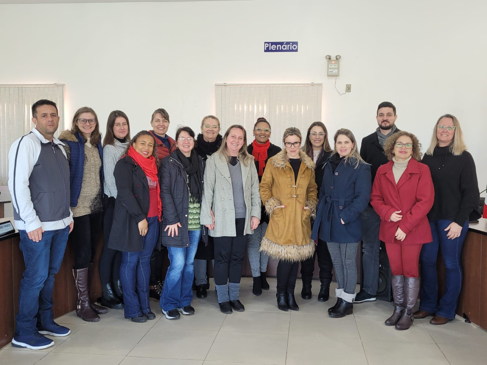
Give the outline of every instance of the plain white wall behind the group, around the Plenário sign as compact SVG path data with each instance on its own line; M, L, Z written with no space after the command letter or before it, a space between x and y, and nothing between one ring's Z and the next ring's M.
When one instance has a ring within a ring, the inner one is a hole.
M456 115L483 190L486 2L398 2L0 5L0 83L66 84L67 124L86 105L101 121L124 110L137 131L166 108L173 135L214 113L215 83L322 82L331 134L346 127L360 140L387 100L397 126L428 146L436 119ZM264 41L299 41L299 52L264 54ZM339 96L327 78L327 54L342 56L337 87L351 93Z

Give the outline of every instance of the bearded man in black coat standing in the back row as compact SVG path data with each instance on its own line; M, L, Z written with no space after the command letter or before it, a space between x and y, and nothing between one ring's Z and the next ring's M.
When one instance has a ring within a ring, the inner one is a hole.
M360 146L360 156L365 162L371 164L372 183L374 183L379 166L389 162L384 154L384 142L387 137L399 131L395 126L397 115L392 103L388 101L380 103L375 119L377 119L377 129L374 133L364 137ZM360 292L357 293L354 303L374 301L379 280L380 218L370 204L362 212L362 225L363 285Z

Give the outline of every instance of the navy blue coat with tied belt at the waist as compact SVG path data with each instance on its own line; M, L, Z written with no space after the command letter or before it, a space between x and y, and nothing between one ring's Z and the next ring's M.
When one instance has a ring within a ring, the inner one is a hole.
M356 160L349 158L333 171L330 158L324 166L311 238L316 239L319 230L319 239L325 242L359 242L361 214L369 204L372 188L370 165L360 163L356 167Z

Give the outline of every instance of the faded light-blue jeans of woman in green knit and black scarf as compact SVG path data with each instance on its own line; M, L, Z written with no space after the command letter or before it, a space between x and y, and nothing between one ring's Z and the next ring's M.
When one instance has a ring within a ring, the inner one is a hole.
M188 247L168 247L169 268L159 304L167 312L191 304L193 299L194 256L201 231L188 231Z

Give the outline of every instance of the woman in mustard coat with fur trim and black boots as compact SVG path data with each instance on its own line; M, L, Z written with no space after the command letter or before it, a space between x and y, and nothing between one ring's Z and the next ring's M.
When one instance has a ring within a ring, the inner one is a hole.
M277 303L280 310L299 310L294 297L299 262L313 256L311 216L315 215L315 164L300 150L301 132L287 128L284 149L269 159L259 185L269 225L261 251L279 258Z

